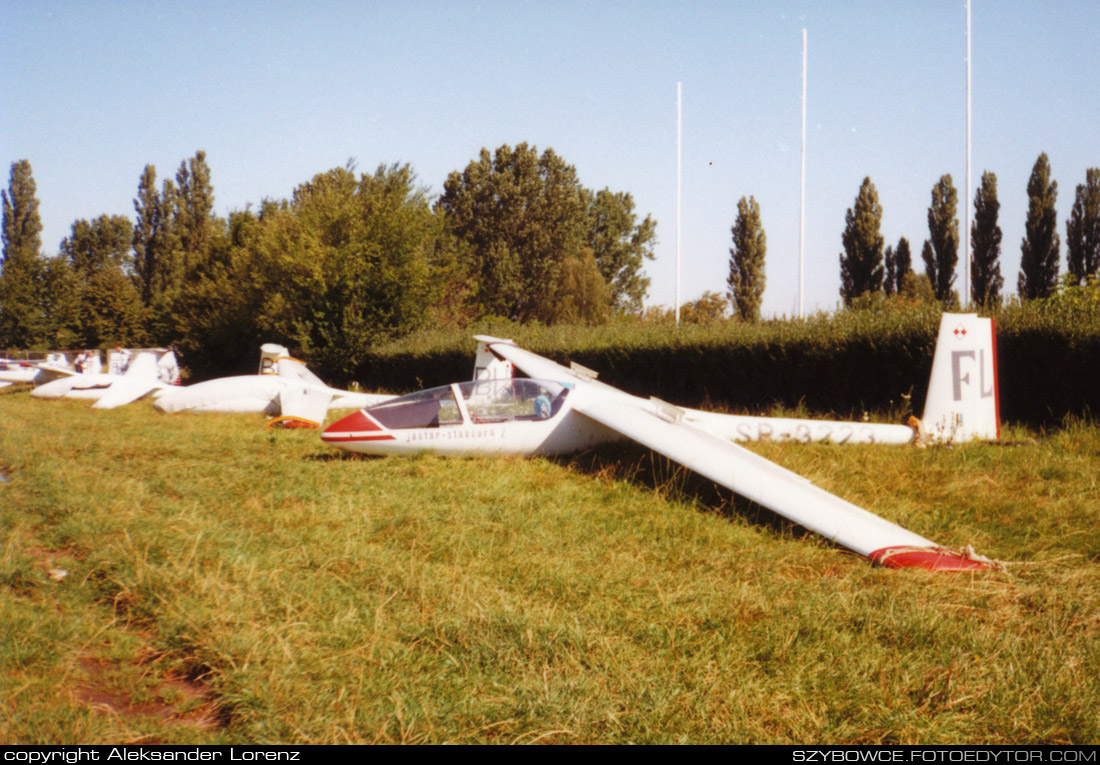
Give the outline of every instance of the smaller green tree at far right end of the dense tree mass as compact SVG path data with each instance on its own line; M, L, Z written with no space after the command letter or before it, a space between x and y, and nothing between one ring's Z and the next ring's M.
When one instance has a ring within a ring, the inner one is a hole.
M649 291L649 278L641 267L647 259L653 260L657 221L647 215L638 223L629 194L605 188L587 196L587 244L607 283L610 305L637 314Z

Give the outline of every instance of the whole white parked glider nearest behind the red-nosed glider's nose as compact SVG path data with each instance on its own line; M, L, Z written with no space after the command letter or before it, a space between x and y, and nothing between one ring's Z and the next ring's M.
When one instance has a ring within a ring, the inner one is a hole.
M275 417L271 424L320 427L330 408L358 409L393 397L329 387L286 348L266 343L261 347L258 374L166 390L153 406L165 413L257 412Z

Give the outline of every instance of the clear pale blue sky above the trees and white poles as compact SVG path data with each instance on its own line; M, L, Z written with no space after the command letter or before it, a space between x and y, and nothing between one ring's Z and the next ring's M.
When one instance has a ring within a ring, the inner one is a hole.
M1038 154L1063 262L1075 188L1100 166L1100 0L972 0L971 17L974 184L998 176L1014 293ZM725 289L737 200L755 196L765 313L790 314L805 28L805 299L833 309L865 176L887 242L909 238L917 260L932 186L950 173L961 196L965 22L964 0L0 0L3 185L31 162L55 253L76 219L132 218L146 164L163 178L196 150L226 215L349 159L409 163L438 194L483 146L526 141L653 215L648 303L672 305L681 81L682 298Z

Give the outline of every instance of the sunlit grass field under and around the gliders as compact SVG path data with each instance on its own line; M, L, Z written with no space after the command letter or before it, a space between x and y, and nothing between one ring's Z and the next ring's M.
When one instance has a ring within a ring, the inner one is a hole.
M1100 428L757 451L1003 572L875 568L632 448L359 459L0 392L0 742L1097 743Z

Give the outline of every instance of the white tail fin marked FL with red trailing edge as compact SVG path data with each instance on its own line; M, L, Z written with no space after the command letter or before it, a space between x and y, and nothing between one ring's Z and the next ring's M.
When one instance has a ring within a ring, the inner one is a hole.
M1000 438L993 319L977 314L944 314L939 319L921 425L926 441Z

